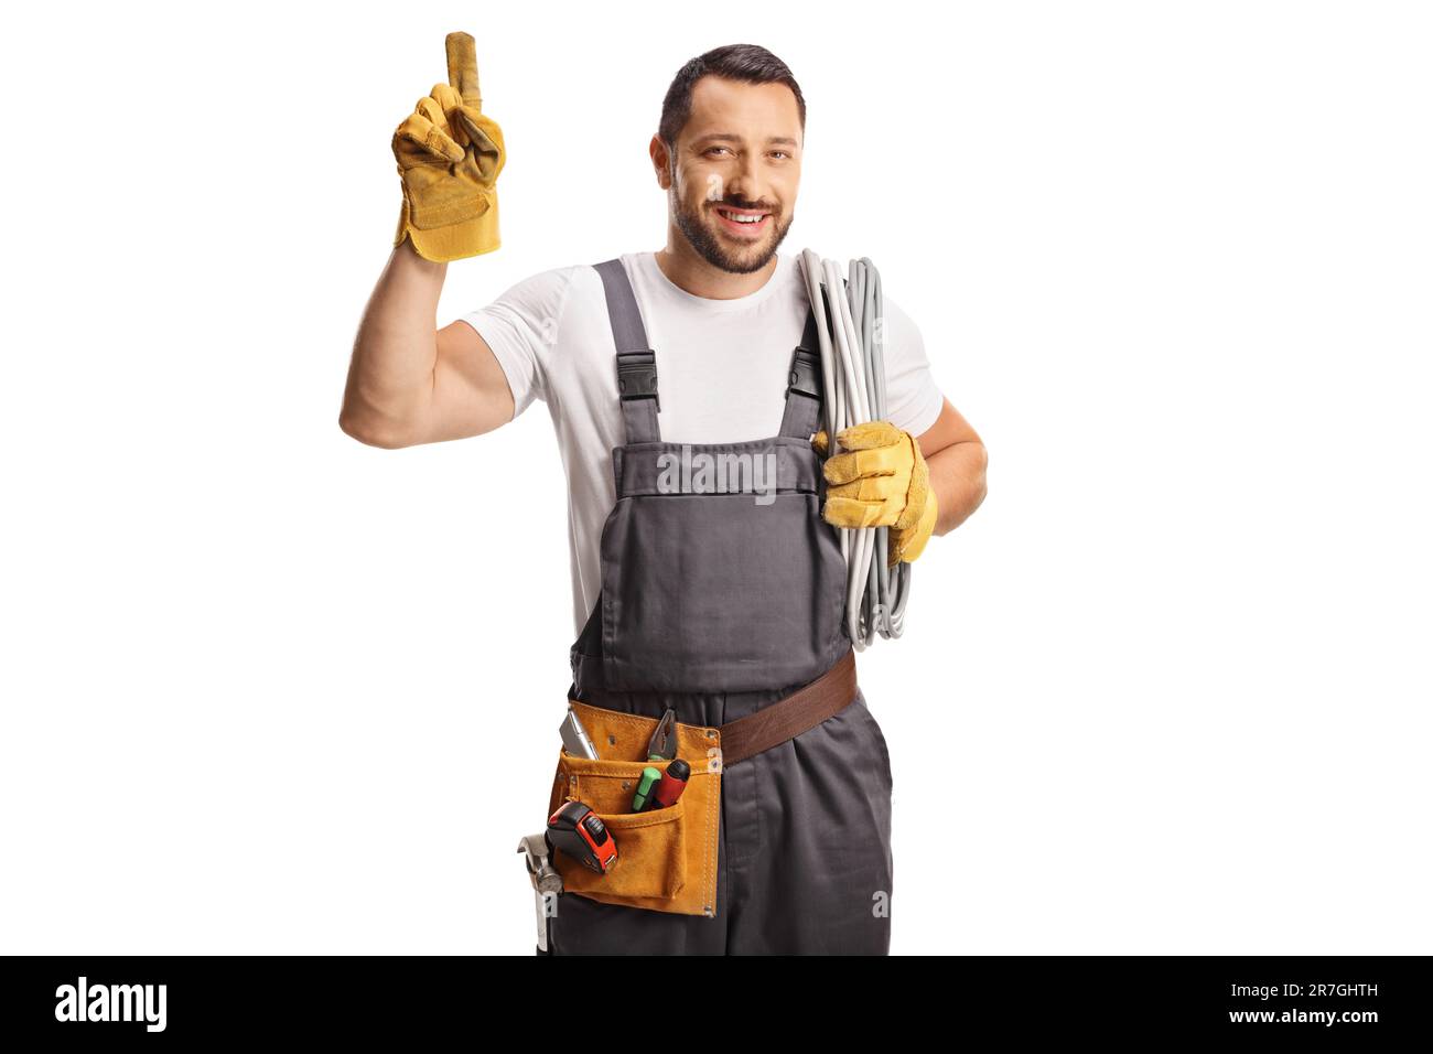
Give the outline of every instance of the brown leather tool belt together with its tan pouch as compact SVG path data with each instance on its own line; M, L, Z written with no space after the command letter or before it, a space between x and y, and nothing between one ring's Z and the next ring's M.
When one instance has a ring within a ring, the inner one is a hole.
M721 727L676 724L676 756L692 767L686 790L666 809L631 812L658 718L569 700L600 754L562 750L547 815L565 800L583 802L618 843L616 863L599 875L553 853L563 889L603 903L679 915L716 915L716 836L721 774L764 750L817 727L856 700L856 652L821 677L761 710Z

